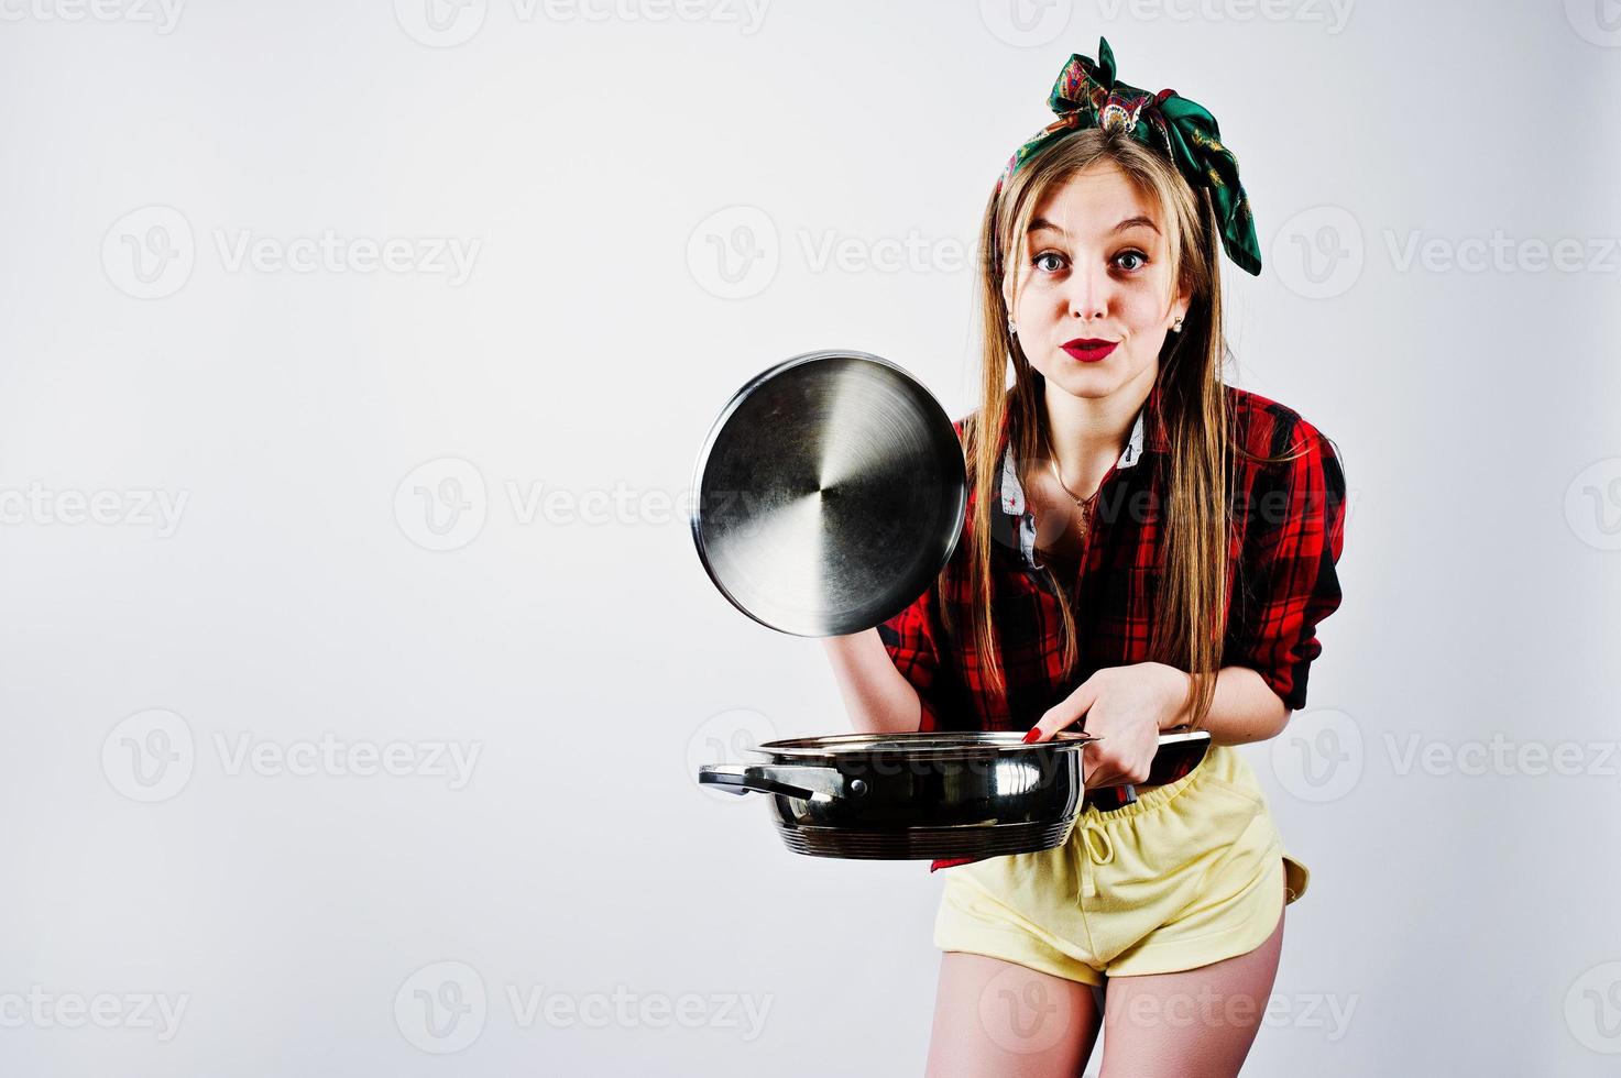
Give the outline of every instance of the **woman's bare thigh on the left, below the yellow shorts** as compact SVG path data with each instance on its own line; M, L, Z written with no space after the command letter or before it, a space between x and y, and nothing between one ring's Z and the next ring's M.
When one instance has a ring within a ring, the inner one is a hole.
M1097 1039L1094 992L1000 958L943 952L927 1078L1073 1078Z

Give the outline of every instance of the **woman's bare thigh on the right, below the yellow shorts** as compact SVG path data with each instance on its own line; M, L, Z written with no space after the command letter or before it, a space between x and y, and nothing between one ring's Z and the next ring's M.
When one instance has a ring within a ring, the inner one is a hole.
M1198 969L1110 977L1102 1078L1232 1078L1277 977L1284 918L1248 955Z

